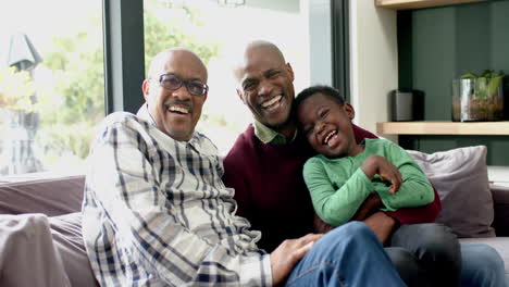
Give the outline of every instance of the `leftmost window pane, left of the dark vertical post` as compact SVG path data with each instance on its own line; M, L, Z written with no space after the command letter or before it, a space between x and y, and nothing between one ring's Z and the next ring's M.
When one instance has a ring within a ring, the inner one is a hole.
M104 117L101 5L0 2L0 176L83 172Z

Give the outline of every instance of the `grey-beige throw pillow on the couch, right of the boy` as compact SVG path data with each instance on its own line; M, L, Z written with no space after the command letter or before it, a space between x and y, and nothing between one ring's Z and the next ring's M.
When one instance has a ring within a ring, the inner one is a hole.
M458 237L494 237L493 198L489 190L485 146L435 153L408 150L442 200L436 222Z

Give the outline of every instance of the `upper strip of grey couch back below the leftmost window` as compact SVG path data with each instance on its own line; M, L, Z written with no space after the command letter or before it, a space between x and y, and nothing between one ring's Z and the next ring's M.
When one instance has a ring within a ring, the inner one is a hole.
M82 210L84 175L0 184L0 214L62 215Z

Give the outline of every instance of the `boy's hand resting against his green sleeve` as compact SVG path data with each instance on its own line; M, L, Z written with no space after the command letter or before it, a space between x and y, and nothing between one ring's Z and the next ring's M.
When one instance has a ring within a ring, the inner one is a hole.
M390 182L390 194L396 194L396 191L399 189L399 186L401 186L401 173L396 166L394 166L393 163L383 157L376 154L368 157L361 169L371 180L373 179L374 175L377 174L382 180Z

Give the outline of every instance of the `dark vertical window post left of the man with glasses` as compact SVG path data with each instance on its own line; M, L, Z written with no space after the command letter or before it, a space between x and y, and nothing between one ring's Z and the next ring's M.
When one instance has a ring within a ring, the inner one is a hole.
M145 102L142 0L103 0L105 113L136 113Z

